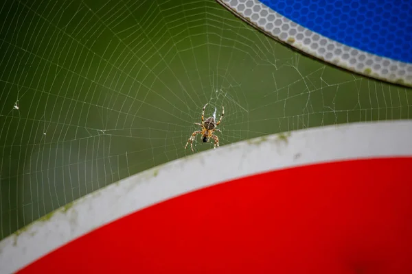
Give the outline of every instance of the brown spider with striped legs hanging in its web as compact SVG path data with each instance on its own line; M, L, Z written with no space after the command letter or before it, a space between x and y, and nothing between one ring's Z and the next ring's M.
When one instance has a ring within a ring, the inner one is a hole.
M206 104L208 105L208 104ZM216 127L220 124L222 121L223 115L225 114L225 108L222 106L222 115L220 116L220 119L218 123L214 121L213 116L210 116L208 119L205 121L205 108L206 105L203 107L202 111L202 123L195 123L196 125L200 125L202 127L202 130L196 130L196 132L192 133L192 136L190 136L189 140L187 140L187 143L185 145L185 149L187 145L190 143L190 148L193 151L193 141L194 138L196 138L197 134L202 134L202 140L203 142L207 142L209 138L212 138L214 140L214 148L219 147L219 138L218 136L214 135L215 131L221 132L220 129L217 129Z

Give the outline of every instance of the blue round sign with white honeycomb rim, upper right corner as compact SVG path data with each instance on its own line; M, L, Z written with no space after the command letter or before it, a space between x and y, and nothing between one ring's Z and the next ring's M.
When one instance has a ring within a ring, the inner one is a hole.
M412 0L217 1L269 36L325 62L412 86Z

